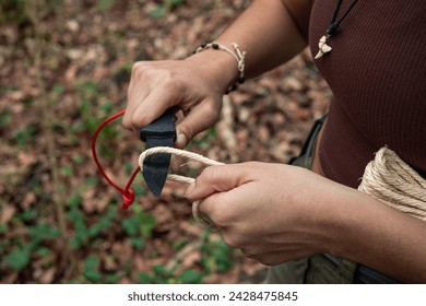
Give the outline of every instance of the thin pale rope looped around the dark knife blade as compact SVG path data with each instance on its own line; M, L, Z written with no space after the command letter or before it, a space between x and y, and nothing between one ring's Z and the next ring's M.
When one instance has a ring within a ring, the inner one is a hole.
M208 166L225 165L224 163L210 160L208 157L204 157L204 156L197 154L197 153L193 153L193 152L188 152L185 150L179 150L179 149L170 148L170 146L155 146L155 148L151 148L151 149L143 151L141 153L141 155L139 156L139 167L141 168L141 170L143 172L143 161L147 156L153 155L153 154L159 154L159 153L175 154L175 155L186 157L186 158L189 158L189 160L192 160L196 162L200 162L200 163L208 165ZM186 177L186 176L181 176L181 175L177 175L177 174L168 174L167 179L175 180L178 183L185 183L185 184L191 184L196 180L192 177ZM192 203L193 219L196 221L200 222L205 227L214 227L215 225L212 224L212 222L205 220L202 216L199 208L200 208L200 201L194 201Z

